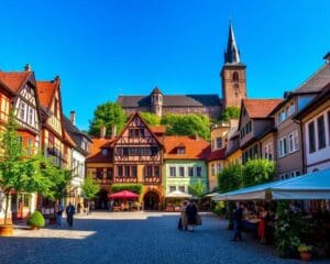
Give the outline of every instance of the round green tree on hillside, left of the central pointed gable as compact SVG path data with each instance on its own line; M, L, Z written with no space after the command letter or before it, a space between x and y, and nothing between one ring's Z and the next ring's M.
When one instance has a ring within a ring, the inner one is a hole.
M117 125L117 131L121 131L128 117L119 103L106 102L94 111L94 118L89 121L89 133L99 136L102 125L106 125L107 134L111 133L113 125Z

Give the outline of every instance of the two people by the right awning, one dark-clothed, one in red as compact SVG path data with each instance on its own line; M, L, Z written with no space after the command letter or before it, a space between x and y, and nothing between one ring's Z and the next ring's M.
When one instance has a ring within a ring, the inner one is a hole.
M244 211L244 204L238 202L237 207L233 211L232 219L233 219L233 229L234 229L234 235L232 241L242 241L242 220L243 220L243 211ZM266 243L266 226L267 226L267 219L268 219L268 211L266 206L261 205L258 206L258 227L257 227L257 237L260 239L260 242L262 244Z

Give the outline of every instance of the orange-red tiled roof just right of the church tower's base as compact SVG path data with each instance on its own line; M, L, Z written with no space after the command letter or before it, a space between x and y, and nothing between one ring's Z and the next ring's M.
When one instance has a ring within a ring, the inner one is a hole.
M267 118L282 99L243 99L246 112L251 119Z

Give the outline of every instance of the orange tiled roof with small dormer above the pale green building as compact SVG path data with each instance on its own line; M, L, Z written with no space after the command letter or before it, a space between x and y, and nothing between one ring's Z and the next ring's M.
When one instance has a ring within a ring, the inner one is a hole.
M199 138L186 135L166 135L164 138L164 158L169 160L207 160L210 155L210 143ZM177 154L177 147L185 146L185 154Z

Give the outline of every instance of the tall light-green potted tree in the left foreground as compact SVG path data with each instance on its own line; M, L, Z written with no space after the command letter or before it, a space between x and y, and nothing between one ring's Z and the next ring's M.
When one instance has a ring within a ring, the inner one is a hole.
M43 173L43 157L34 152L23 151L16 133L13 112L10 113L4 132L1 134L0 187L6 197L4 224L8 223L10 193L47 194L53 185Z

